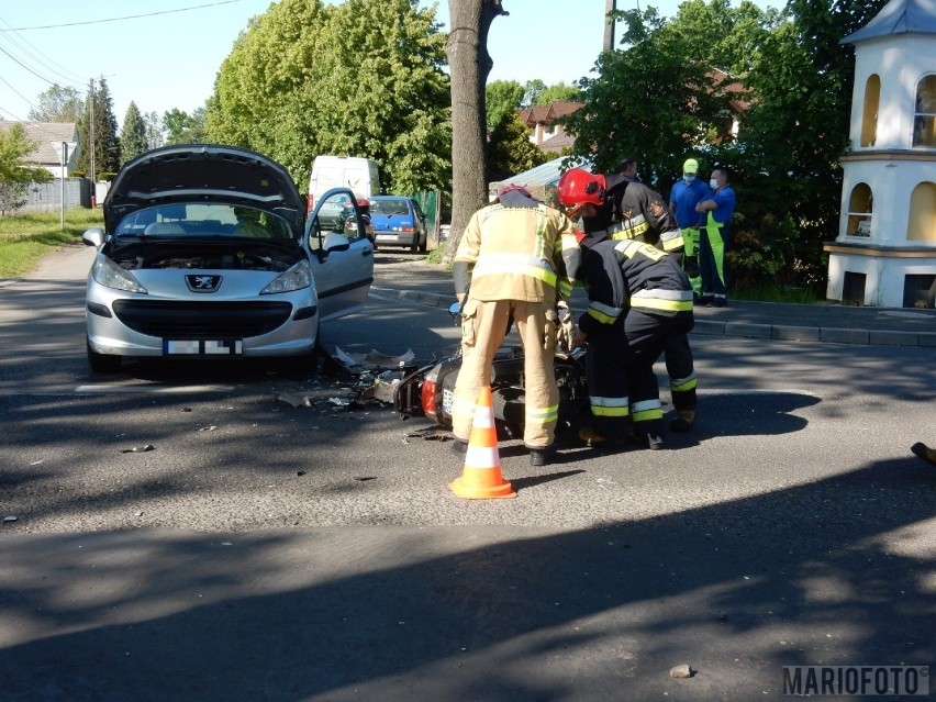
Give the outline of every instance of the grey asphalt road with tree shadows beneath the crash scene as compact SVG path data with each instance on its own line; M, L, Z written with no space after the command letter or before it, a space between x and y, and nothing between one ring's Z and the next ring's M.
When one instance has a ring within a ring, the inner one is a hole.
M331 365L92 377L66 258L0 285L0 700L750 700L936 660L932 348L693 336L693 434L537 470L505 443L517 498L466 501ZM456 336L377 296L323 330Z

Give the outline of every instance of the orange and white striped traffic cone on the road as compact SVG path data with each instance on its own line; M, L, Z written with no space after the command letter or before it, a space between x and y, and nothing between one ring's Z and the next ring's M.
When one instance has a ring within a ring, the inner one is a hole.
M498 432L494 428L494 410L489 386L481 388L478 393L471 437L465 454L465 470L461 477L453 480L448 487L459 498L467 500L516 497L513 487L501 475Z

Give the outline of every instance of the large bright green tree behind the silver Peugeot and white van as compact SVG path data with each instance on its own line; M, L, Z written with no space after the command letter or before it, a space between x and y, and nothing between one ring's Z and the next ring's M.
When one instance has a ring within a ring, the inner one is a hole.
M367 156L393 192L450 178L445 35L415 0L282 0L242 34L208 103L210 141L265 153L300 186L319 154Z

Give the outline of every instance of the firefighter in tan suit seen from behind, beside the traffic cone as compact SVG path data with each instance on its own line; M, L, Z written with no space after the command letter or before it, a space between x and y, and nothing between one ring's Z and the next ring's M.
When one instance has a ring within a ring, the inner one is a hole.
M471 215L452 269L463 304L452 411L456 450L467 447L478 392L490 382L494 352L512 321L524 350L523 443L533 466L549 463L559 415L556 309L571 293L580 256L571 221L524 188L501 188L497 202Z

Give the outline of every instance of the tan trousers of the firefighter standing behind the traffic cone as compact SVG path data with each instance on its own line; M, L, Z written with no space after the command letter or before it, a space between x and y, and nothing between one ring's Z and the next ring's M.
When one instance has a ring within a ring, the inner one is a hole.
M463 442L470 438L478 392L491 381L491 364L511 319L523 345L523 443L527 448L545 448L553 444L559 417L559 390L553 367L557 333L553 301L484 301L469 297L463 310L461 368L455 381L453 433Z

